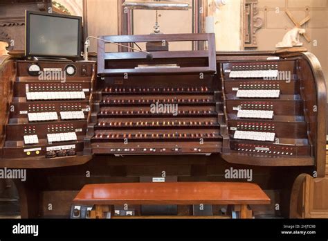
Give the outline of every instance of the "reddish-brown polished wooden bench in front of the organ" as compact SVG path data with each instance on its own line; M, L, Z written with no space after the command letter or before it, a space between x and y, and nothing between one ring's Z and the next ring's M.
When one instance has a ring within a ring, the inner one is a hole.
M91 217L95 216L96 218L122 217L113 215L113 205L125 204L228 204L233 205L235 211L240 212L239 217L251 218L252 211L248 210L248 205L270 204L270 199L263 192L263 190L257 186L257 184L252 183L124 183L85 185L73 200L73 204L89 206L95 205L95 211ZM110 213L110 215L107 215L107 213ZM172 217L174 216L170 216L170 218ZM179 218L179 216L176 216L176 218ZM215 216L211 216L211 218L215 218Z

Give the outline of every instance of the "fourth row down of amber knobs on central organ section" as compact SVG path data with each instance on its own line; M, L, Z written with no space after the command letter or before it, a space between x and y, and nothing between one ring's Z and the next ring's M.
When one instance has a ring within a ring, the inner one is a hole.
M215 125L212 121L106 121L100 120L98 126L113 126L113 127L124 127L124 126L210 126Z

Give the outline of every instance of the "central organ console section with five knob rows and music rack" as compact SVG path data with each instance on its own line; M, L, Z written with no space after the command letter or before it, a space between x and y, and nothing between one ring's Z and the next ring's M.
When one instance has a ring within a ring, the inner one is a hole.
M116 38L104 37L111 42L115 42ZM160 38L152 35L131 36L126 42L158 42ZM167 42L176 41L179 35L168 35L167 38ZM198 39L206 40L206 35ZM208 40L212 46L214 36ZM98 44L102 50L104 43ZM179 57L170 55L169 51L157 51L152 53L154 59L148 61L145 60L145 53L113 55L100 51L100 81L96 89L92 119L93 153L221 152L221 103L219 83L215 82L214 75L214 50L197 52L181 51L183 59L179 60ZM125 55L127 59L131 56L131 60L126 64L120 55ZM180 56L178 53L176 55ZM140 65L145 66L140 68ZM152 69L152 66L158 68ZM163 75L162 71L166 71L166 74Z

